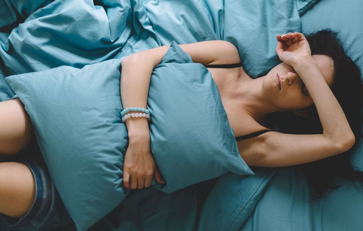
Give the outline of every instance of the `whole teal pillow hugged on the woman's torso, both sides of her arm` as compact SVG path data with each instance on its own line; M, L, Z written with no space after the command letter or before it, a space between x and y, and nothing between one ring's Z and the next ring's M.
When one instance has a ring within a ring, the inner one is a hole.
M123 187L128 136L121 122L121 60L8 76L32 120L50 176L78 231L111 212ZM173 192L228 171L254 175L238 153L216 83L172 42L152 72L151 149Z

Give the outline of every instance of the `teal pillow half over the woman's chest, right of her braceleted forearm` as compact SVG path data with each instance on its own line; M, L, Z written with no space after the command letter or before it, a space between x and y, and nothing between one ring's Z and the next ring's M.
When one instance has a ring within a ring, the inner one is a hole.
M201 104L201 102L203 102ZM151 75L151 150L165 192L223 175L254 175L241 158L211 73L173 41Z

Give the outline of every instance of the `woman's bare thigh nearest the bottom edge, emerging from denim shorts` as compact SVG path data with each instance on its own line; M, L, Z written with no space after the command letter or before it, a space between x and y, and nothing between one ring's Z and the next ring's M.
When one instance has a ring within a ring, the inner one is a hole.
M0 213L22 218L35 200L35 180L30 168L21 162L0 163Z

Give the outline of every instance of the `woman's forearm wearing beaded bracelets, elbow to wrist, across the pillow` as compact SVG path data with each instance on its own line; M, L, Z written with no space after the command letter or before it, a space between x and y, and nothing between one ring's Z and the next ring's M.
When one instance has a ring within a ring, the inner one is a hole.
M154 68L153 63L147 59L124 58L121 62L120 91L122 107L147 108L147 95L150 86L151 73ZM142 139L149 134L147 119L133 117L126 120L129 141Z

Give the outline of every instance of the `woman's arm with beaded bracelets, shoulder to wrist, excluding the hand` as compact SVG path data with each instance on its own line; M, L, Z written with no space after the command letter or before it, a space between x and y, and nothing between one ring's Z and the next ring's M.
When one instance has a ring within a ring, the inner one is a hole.
M237 48L228 41L201 41L179 46L191 56L193 63L209 65L240 62ZM170 45L164 45L136 52L122 60L120 89L123 108L146 108L152 70L160 64L169 47ZM148 131L148 123L145 118L128 119L126 126L130 139L138 138L140 129L143 133Z

